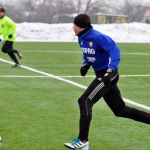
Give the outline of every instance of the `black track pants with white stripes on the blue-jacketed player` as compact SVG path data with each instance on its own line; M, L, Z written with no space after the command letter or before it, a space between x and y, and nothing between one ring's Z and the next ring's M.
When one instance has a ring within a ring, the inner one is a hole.
M100 80L103 74L104 73L99 73L97 75L97 78L93 80L78 100L80 107L80 129L78 138L82 141L88 140L89 127L92 119L92 107L101 97L104 98L107 105L116 116L150 124L149 113L125 105L116 84L119 75L112 81L110 86L105 86Z

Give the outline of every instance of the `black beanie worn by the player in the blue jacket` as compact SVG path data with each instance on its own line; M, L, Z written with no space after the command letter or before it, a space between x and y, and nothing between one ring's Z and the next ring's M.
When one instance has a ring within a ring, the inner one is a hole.
M87 14L79 14L74 18L74 24L80 28L91 26L91 19Z

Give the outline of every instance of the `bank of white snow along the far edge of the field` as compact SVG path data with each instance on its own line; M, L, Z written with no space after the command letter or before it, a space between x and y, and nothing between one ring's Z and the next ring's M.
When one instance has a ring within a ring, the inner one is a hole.
M150 24L103 24L93 27L113 38L116 42L150 43ZM72 24L17 24L17 41L77 41Z

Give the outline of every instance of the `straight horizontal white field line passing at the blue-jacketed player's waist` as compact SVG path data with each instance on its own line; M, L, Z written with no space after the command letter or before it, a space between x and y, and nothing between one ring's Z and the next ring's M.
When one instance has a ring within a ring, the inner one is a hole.
M58 76L60 78L83 78L82 76ZM94 75L87 75L84 78L94 78ZM126 77L150 77L150 75L120 75L121 78ZM37 75L0 75L0 78L52 78L52 76Z

